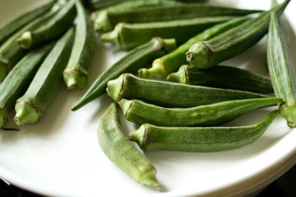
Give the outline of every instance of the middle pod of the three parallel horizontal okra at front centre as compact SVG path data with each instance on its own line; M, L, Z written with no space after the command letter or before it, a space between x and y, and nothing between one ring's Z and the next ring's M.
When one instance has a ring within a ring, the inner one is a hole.
M133 99L118 101L125 118L136 124L149 123L163 127L217 126L263 107L282 102L276 97L229 100L188 108L165 108Z

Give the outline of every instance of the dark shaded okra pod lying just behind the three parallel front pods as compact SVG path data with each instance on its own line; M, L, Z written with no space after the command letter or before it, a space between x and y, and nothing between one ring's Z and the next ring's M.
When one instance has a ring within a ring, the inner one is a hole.
M232 66L199 69L195 66L183 65L178 72L169 74L167 80L183 84L250 91L259 94L273 93L272 84L268 77Z

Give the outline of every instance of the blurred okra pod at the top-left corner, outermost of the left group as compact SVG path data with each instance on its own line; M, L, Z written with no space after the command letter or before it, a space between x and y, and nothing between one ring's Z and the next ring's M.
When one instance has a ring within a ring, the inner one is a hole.
M13 20L7 22L3 26L0 27L0 45L8 39L13 33L16 33L26 24L34 20L36 17L46 13L49 11L57 0L49 0L48 2L35 7L31 10L26 11L20 16L14 18Z

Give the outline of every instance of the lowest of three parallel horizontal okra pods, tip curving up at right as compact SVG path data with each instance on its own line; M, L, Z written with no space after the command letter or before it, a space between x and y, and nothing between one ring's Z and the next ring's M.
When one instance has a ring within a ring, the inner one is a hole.
M129 139L145 151L225 151L255 142L277 115L278 110L274 110L261 121L240 127L157 127L143 124L129 133Z

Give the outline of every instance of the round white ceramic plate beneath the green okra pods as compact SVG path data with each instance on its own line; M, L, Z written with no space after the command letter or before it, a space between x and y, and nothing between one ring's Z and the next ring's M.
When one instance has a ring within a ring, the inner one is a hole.
M0 24L42 1L0 0ZM222 5L268 9L269 0L217 0ZM291 43L296 43L296 14L291 1L285 11ZM295 44L290 46L296 52ZM240 66L267 75L266 40L224 65ZM98 42L90 86L96 76L125 52ZM292 55L294 65L296 57ZM145 153L157 169L163 191L157 192L133 182L101 151L96 130L111 99L103 96L80 110L70 109L85 90L68 92L62 86L36 125L21 131L0 131L0 177L21 188L57 197L181 197L244 196L282 175L296 162L296 131L277 117L253 144L217 153L155 151ZM251 124L273 108L256 110L229 125ZM12 121L7 127L16 127ZM133 124L123 123L125 130Z

